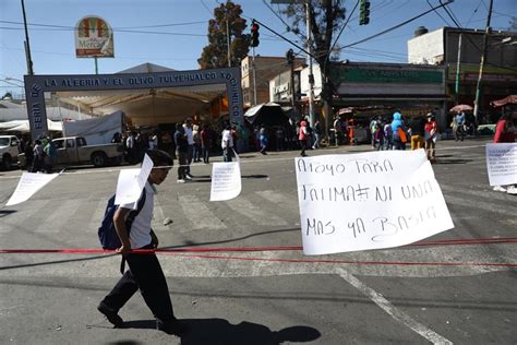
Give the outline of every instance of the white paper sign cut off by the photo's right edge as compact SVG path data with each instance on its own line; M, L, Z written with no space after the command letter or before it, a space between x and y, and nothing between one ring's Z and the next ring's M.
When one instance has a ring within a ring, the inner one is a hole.
M486 144L490 186L517 183L517 143Z

